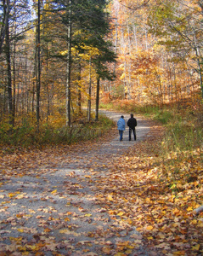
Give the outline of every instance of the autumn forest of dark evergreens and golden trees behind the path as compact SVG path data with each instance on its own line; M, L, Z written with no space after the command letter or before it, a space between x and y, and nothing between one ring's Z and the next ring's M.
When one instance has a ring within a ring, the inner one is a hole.
M90 120L91 103L99 119L99 100L200 108L202 8L197 0L2 0L1 136L70 126L82 105Z

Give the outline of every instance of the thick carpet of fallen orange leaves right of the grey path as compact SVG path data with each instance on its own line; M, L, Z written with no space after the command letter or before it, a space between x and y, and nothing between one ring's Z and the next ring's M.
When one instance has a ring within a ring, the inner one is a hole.
M203 212L194 212L203 205L202 151L164 161L160 132L116 160L98 181L98 199L111 218L137 228L153 255L202 255Z

